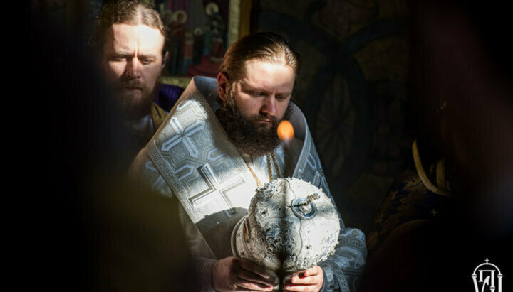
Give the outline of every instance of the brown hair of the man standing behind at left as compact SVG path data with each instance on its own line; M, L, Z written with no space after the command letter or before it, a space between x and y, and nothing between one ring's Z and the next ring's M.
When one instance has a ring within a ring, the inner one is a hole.
M98 18L95 21L93 46L101 55L105 45L105 35L115 23L132 25L144 24L155 28L167 40L167 28L162 23L159 13L152 6L136 0L105 1ZM162 48L164 53L166 45Z

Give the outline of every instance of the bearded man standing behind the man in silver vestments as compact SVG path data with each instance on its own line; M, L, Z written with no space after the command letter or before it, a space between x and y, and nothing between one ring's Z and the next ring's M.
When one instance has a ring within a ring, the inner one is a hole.
M95 23L95 48L130 133L128 161L150 141L183 90L157 80L167 60L166 28L141 1L108 1Z

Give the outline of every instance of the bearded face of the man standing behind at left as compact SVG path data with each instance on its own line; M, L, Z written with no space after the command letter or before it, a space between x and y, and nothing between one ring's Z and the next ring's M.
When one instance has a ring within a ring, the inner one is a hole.
M113 24L103 48L103 70L129 119L150 111L157 79L162 72L165 38L145 25Z

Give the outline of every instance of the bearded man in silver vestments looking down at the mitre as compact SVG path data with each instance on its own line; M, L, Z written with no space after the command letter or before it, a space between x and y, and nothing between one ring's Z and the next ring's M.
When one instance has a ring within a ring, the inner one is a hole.
M204 290L271 291L264 267L232 256L230 234L254 190L281 177L300 178L332 200L306 119L290 102L299 56L276 33L237 40L217 80L194 77L177 107L135 158L130 173L180 201L179 212ZM281 144L289 119L296 137ZM175 211L172 211L175 212ZM294 276L287 291L350 291L363 272L364 235L341 221L336 253Z

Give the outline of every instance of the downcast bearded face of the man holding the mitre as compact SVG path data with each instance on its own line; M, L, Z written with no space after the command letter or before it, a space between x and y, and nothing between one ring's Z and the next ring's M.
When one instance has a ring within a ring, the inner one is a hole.
M218 117L238 148L261 155L279 144L276 128L289 109L295 73L284 63L264 60L249 60L244 69L242 79L231 83L218 75L224 101Z

